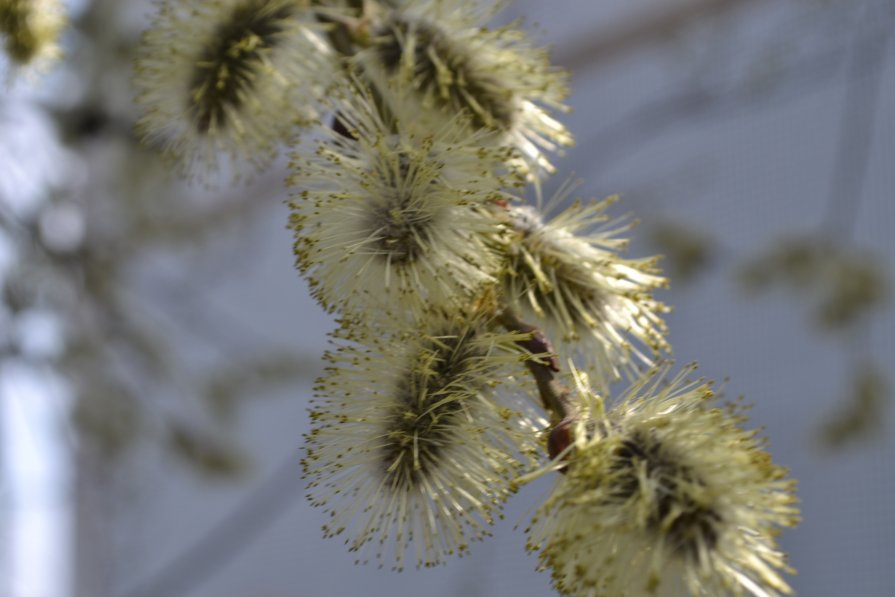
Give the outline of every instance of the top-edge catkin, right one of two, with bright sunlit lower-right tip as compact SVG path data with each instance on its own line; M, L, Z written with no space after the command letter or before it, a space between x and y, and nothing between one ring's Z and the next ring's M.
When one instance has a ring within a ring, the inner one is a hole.
M512 161L524 172L553 172L545 152L573 142L550 115L566 109L566 74L515 27L483 27L500 4L401 3L359 60L386 98L409 99L436 121L464 114L471 128L499 132L495 141L516 150Z

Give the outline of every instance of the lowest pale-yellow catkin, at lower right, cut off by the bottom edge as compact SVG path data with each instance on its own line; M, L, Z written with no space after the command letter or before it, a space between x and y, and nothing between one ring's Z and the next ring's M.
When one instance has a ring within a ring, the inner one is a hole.
M604 413L591 397L567 468L530 530L565 595L698 597L790 593L776 546L798 522L794 482L745 417L709 384L637 381Z

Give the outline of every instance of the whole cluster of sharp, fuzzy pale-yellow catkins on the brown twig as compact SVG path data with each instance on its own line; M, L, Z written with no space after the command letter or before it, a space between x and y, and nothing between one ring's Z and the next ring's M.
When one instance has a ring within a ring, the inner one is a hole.
M559 592L788 593L793 484L709 383L668 378L667 280L622 255L616 198L541 200L567 75L499 8L163 0L141 46L138 127L185 175L290 148L296 265L339 321L303 460L324 533L440 564L555 472L528 546Z

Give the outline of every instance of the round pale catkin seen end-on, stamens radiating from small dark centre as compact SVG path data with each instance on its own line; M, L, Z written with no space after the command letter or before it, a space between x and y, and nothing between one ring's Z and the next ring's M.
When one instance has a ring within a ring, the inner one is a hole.
M289 184L299 268L329 310L419 317L468 304L493 284L500 231L486 209L507 195L506 150L455 122L418 129L383 119L358 92L336 102L349 136L330 131L296 154Z

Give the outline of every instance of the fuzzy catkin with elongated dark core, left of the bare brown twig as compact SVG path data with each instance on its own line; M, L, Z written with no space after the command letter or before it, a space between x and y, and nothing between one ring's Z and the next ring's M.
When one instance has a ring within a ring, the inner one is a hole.
M326 535L345 533L352 551L372 544L399 570L464 553L489 534L519 457L537 450L533 424L495 391L522 373L518 335L441 317L341 336L303 461L309 499L331 516Z

